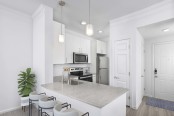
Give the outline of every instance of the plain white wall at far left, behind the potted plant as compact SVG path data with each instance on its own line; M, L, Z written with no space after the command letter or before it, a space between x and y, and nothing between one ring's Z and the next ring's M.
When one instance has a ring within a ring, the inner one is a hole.
M17 79L32 67L32 18L0 6L0 112L20 104Z

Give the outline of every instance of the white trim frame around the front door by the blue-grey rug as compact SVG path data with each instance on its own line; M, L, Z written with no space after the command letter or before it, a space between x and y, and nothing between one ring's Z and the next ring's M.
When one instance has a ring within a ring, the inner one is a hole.
M154 78L154 69L155 69L155 46L160 44L174 43L174 41L164 41L156 42L152 44L152 69L151 69L151 83L152 83L152 97L155 97L155 78Z

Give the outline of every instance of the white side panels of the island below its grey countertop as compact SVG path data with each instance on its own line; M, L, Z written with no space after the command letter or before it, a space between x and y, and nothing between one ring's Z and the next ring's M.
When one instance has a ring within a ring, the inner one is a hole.
M97 108L82 101L73 99L58 92L43 88L48 96L55 96L62 103L68 102L72 108L78 109L81 112L89 112L90 116L126 116L126 94L116 98L111 103L103 108Z

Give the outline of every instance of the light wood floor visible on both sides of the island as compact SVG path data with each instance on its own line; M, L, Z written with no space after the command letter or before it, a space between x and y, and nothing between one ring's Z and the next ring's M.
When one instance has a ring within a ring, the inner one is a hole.
M174 111L146 105L146 99L146 97L143 99L143 102L138 110L127 108L126 116L174 116ZM0 114L0 116L28 116L28 109L26 109L26 112L23 112L22 109L18 109L12 112ZM36 109L33 111L33 116L37 116Z

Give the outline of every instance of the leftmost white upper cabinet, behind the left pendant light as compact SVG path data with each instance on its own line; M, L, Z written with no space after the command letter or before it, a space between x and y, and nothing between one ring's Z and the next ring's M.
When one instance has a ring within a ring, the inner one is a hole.
M54 44L53 44L53 64L65 63L65 42L59 42L59 34L61 33L61 24L53 22ZM62 25L62 32L65 35L65 25ZM66 41L66 37L65 37Z

